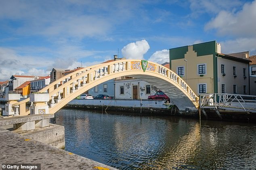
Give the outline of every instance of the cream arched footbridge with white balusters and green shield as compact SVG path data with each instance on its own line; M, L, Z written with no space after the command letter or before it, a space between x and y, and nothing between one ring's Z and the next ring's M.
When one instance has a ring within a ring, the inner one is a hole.
M121 76L138 78L156 86L181 110L198 108L199 98L176 73L157 63L137 59L117 60L82 68L52 82L39 92L49 94L52 106L49 113L53 114L90 88ZM12 107L19 106L20 115L28 115L30 111L26 111L26 102L29 102L29 98Z

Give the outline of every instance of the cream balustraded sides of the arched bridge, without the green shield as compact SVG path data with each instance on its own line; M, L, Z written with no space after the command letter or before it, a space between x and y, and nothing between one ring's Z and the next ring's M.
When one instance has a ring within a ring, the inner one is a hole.
M127 75L126 72L131 74L132 72L134 72L134 74L142 74L143 69L141 60L117 60L109 63L101 63L98 65L82 68L66 76L63 76L55 82L52 82L50 85L44 87L39 92L46 92L49 94L49 112L55 113L65 104L67 104L67 102L73 98L76 98L76 96L82 94L86 90L89 90L90 88L104 81L110 80L115 76L115 74L117 75L116 77L125 76ZM162 79L166 79L169 82L172 82L172 84L176 84L176 86L182 90L188 98L190 98L194 105L198 106L199 98L195 95L191 88L189 88L187 83L176 73L172 72L172 70L149 61L146 72L154 73L157 77L161 77ZM19 113L21 113L21 115L28 115L29 111L24 113L26 102L29 102L29 98L21 102L17 102L12 106L15 107L19 105Z

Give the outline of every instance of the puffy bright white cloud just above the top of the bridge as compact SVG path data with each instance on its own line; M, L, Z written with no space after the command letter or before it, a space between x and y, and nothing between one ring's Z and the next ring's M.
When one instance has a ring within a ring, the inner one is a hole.
M143 39L124 46L122 54L126 59L143 59L143 55L147 53L149 48L149 43Z

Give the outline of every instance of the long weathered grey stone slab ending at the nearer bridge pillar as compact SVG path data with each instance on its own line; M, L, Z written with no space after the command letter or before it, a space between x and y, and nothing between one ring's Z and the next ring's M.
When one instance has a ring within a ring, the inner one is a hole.
M30 121L38 121L42 119L50 119L53 117L54 117L54 114L8 117L8 118L0 119L0 126L13 125L17 123L24 123L24 122L30 122Z

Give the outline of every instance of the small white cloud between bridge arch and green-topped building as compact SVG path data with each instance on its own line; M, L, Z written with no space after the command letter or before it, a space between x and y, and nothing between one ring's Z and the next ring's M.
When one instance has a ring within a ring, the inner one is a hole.
M149 57L149 61L153 61L155 63L163 64L165 62L170 62L169 59L169 50L163 49L162 51L155 51L151 57Z

